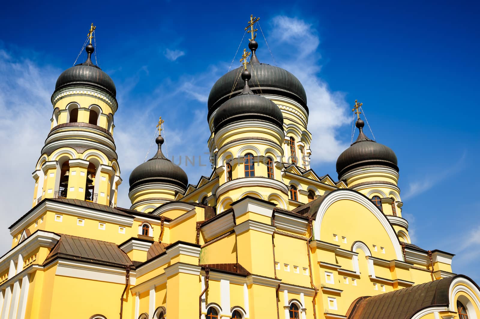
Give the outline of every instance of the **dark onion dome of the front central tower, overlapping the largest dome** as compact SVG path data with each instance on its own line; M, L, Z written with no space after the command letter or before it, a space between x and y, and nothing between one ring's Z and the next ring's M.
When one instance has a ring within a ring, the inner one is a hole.
M278 105L250 90L248 80L251 74L248 70L242 72L241 78L244 80L243 91L218 108L213 120L214 130L234 122L252 119L272 123L283 130L283 114Z

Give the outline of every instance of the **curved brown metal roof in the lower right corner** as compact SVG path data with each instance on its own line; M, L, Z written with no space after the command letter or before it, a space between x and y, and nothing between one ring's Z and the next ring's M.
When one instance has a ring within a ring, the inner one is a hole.
M458 275L457 275L458 276ZM447 306L454 277L398 289L372 297L360 297L348 310L348 319L409 319L422 308Z

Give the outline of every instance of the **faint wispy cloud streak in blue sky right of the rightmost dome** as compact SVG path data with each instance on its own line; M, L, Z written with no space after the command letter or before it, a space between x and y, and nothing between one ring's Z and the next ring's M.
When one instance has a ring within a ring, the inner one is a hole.
M454 163L452 166L448 167L445 170L438 170L434 172L427 173L420 177L420 179L411 181L408 183L408 190L402 194L402 200L407 200L412 197L418 196L438 183L444 181L445 179L451 177L458 171L461 171L465 167L465 159L467 157L467 151L464 151L461 157Z

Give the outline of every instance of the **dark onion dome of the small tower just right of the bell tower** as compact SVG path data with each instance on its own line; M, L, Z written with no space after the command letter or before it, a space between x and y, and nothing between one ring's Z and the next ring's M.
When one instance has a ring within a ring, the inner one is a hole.
M172 184L185 191L188 185L187 173L163 155L161 149L164 142L163 137L157 137L155 142L158 145L155 156L138 165L130 174L130 191L147 183Z

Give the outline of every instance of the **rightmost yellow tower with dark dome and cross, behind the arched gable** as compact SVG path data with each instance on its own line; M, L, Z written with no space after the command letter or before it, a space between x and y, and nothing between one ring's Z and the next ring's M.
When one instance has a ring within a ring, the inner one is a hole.
M337 159L338 179L348 188L359 191L372 200L396 230L398 239L410 242L408 222L402 218L398 166L395 152L368 138L363 133L365 122L360 118L362 103L355 100L359 136Z

